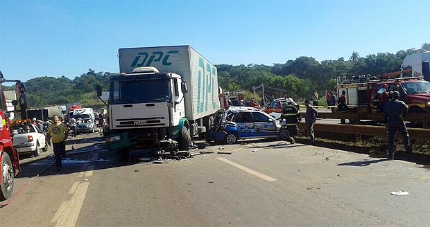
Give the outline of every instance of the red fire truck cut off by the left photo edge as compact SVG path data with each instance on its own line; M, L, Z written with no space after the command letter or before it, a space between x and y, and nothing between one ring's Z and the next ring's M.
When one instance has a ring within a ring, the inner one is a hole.
M12 196L14 179L20 172L18 152L17 149L12 147L13 143L9 127L10 113L8 112L6 98L3 92L3 82L16 82L15 85L19 94L19 105L22 114L24 114L24 118L26 118L26 87L19 80L5 80L0 71L0 201L9 199ZM18 104L17 100L13 100L12 104L16 106Z

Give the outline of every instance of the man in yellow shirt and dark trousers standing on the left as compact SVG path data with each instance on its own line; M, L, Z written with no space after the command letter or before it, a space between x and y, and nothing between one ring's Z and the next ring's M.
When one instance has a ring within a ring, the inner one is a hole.
M53 124L48 128L49 140L52 140L53 152L55 155L55 165L57 172L61 171L61 157L65 154L65 141L67 139L67 126L60 122L58 116L53 116Z

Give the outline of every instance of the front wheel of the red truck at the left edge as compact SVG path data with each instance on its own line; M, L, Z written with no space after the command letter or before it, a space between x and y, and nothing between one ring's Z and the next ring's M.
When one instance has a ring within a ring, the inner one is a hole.
M0 148L3 152L3 147ZM8 153L4 152L1 158L1 183L0 183L0 201L9 199L12 196L13 181L15 178L12 161Z

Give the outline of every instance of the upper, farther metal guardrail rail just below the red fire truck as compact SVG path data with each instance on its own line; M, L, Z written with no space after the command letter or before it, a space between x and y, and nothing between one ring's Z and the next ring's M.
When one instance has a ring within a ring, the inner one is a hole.
M306 113L300 113L304 118ZM381 113L353 113L353 112L334 112L334 113L318 113L318 118L325 119L354 119L354 120L384 120L384 115ZM406 116L406 121L422 123L423 128L430 128L430 114L411 113Z

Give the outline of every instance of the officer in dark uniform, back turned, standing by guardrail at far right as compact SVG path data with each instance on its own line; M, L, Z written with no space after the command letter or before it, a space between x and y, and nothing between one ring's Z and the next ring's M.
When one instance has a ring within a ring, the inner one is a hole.
M397 130L402 134L406 152L412 152L409 145L408 129L404 123L404 118L408 113L408 106L399 100L399 91L393 91L392 99L384 105L384 118L388 131L388 159L394 158L394 140Z

